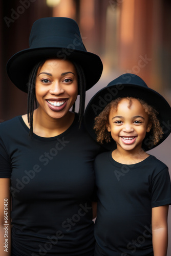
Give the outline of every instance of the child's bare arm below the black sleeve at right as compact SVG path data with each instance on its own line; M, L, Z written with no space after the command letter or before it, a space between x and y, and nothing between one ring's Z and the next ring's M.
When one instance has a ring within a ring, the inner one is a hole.
M166 256L168 244L168 205L152 208L152 236L154 256Z

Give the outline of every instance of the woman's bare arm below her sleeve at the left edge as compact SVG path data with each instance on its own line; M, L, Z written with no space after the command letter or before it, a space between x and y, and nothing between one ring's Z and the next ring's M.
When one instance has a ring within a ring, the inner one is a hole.
M0 178L0 255L11 255L10 179Z

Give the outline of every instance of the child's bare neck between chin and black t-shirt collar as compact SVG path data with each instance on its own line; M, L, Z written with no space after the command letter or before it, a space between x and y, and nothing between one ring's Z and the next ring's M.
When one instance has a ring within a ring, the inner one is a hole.
M135 164L143 161L149 155L140 148L139 151L122 151L118 148L112 152L112 158L119 163Z

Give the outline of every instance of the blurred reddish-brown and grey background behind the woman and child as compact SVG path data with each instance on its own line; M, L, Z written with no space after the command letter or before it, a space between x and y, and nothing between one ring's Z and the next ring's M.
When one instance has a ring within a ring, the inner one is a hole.
M32 24L42 17L75 19L87 51L100 56L103 73L87 92L86 104L95 92L123 73L139 75L170 104L170 12L170 0L1 0L0 121L27 112L27 94L9 80L6 63L16 52L29 48ZM171 136L149 153L166 163L171 174L170 144Z

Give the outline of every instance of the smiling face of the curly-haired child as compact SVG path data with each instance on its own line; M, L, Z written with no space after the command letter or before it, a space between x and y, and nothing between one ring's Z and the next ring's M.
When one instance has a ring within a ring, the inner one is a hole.
M129 106L129 100L124 98L119 102L117 110L111 109L106 128L111 132L117 148L138 151L146 132L151 130L151 123L137 99L132 99L132 105Z

